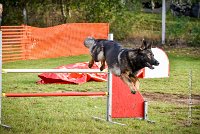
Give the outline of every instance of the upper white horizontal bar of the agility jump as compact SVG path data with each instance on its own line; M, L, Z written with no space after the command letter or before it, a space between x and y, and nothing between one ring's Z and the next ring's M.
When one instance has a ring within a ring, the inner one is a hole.
M107 73L100 69L2 69L3 73Z

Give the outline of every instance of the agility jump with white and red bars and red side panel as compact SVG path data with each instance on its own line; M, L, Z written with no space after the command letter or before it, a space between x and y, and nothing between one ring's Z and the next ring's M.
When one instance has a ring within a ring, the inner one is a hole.
M112 40L113 35L110 39ZM2 31L0 31L0 39L2 39ZM125 85L119 85L121 81L119 78L113 76L110 72L101 72L100 70L92 70L92 69L2 69L2 40L0 42L0 125L4 127L9 127L2 123L2 97L47 97L47 96L107 96L107 111L106 111L106 121L112 122L112 118L142 118L147 119L147 113L145 113L146 106L144 106L144 99L138 92L137 94L133 95L129 92L130 95L127 100L127 94L121 95L121 92L127 90L129 91L128 87L124 87ZM44 73L44 72L54 72L54 73L108 73L108 92L95 92L95 93L4 93L2 94L2 73ZM118 85L116 85L118 84ZM119 89L123 88L123 90ZM120 92L118 92L119 90ZM120 97L119 97L120 96ZM132 100L131 100L131 98ZM117 99L116 99L117 98ZM139 98L139 99L138 99ZM135 99L135 100L134 100ZM126 100L126 101L124 101ZM120 104L121 103L121 104ZM131 105L129 104L131 103ZM119 105L120 104L120 105ZM128 106L129 105L129 106ZM132 107L134 105L134 107ZM130 109L131 108L131 109ZM121 111L119 111L119 109ZM131 111L130 111L131 110ZM116 123L116 122L112 122ZM120 123L117 123L120 124Z

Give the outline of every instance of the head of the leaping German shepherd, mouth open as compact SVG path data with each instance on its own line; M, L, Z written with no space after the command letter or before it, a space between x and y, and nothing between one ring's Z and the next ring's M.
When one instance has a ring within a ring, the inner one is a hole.
M139 62L142 67L148 67L150 69L154 69L153 65L159 65L159 62L154 58L154 54L151 51L151 43L147 43L144 39L138 51L129 52L129 58L137 59L137 62Z

